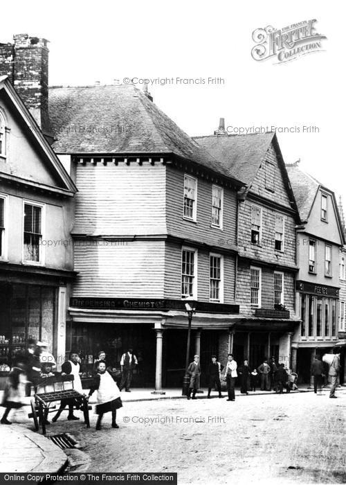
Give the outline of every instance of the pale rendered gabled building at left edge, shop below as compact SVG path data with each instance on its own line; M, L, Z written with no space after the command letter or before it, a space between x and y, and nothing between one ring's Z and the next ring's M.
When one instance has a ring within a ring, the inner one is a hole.
M65 357L75 186L33 116L0 77L0 371L29 338Z

